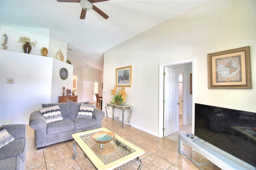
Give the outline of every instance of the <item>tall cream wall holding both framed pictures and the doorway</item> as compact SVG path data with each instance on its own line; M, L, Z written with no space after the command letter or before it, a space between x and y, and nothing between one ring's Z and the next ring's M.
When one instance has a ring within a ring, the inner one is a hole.
M104 54L103 107L113 97L116 68L132 65L132 87L126 87L127 103L133 105L131 124L161 136L159 64L194 58L195 103L256 112L255 8L256 1L205 2L109 49ZM252 89L208 89L207 54L245 46L251 49Z

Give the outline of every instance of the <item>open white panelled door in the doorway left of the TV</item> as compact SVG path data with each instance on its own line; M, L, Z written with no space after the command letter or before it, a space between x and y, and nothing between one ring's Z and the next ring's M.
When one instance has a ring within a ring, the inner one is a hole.
M164 67L164 136L179 131L179 71Z

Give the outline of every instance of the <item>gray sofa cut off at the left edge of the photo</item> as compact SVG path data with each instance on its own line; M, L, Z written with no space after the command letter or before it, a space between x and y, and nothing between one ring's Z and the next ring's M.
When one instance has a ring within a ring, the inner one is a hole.
M26 126L22 124L2 125L14 140L0 148L1 170L24 170L27 153Z

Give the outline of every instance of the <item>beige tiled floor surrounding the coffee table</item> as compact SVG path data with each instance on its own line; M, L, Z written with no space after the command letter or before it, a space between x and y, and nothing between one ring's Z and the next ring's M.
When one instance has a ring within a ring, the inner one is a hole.
M199 169L186 156L178 153L178 143L168 138L158 138L142 130L108 119L102 119L102 127L108 128L115 134L125 138L132 144L144 150L140 156L142 170L197 170ZM34 130L26 125L26 138L28 141L28 152L25 169L28 170L94 170L94 166L84 157L81 150L78 151L76 159L72 159L74 140L52 144L44 149L37 150L34 142ZM193 160L202 163L207 162L200 154L184 146L183 150L193 157ZM218 169L214 164L206 164L204 169ZM135 170L138 167L132 165L127 170Z

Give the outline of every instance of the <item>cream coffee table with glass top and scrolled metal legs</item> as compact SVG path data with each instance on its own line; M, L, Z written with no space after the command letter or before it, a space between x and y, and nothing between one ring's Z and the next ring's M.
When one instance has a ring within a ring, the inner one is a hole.
M140 170L142 164L139 156L144 154L144 150L116 134L112 141L105 144L100 144L92 140L92 135L101 131L111 132L106 128L98 128L72 134L75 140L73 143L73 158L76 158L76 145L78 145L84 152L84 156L88 158L98 170L122 170L132 164L138 166L138 170Z

